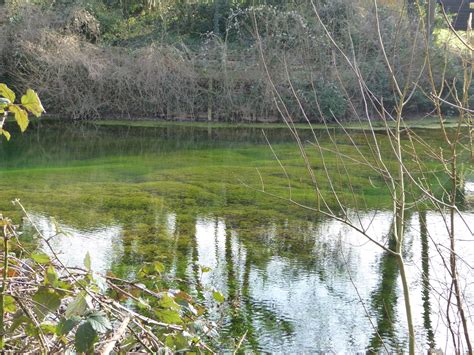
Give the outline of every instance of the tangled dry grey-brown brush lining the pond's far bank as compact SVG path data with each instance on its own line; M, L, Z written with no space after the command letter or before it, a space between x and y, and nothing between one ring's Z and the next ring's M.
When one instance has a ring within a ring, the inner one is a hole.
M293 90L313 121L323 116L352 119L364 111L359 84L334 55L321 24L307 16L307 6L291 11L268 5L237 9L222 35L205 34L193 45L152 41L133 48L101 42L100 25L85 9L74 8L65 15L24 6L15 10L2 31L6 40L0 47L0 75L3 71L4 81L19 90L37 88L48 112L64 118L279 120L255 45L255 16L272 80L295 119L304 117ZM321 1L320 13L338 42L360 63L374 95L394 109L371 2ZM422 72L425 63L422 46L420 53L412 53L409 45L421 40L419 29L400 16L393 7L379 9L387 55L399 70L395 75L403 78L410 76L407 70ZM442 48L433 52L439 52L439 60L445 58ZM448 78L458 70L455 60L447 63ZM412 114L431 112L428 82L424 77L418 80L419 89L407 108Z

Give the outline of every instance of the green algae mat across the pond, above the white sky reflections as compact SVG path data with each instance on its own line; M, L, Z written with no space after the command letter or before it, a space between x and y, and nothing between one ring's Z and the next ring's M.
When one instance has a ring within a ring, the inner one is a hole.
M225 216L264 213L275 218L287 216L289 209L292 218L311 217L313 212L285 201L291 194L309 207L317 203L295 143L284 129L269 130L267 135L284 170L259 130L252 128L214 129L209 134L199 127L182 126L38 126L26 135L14 134L11 143L0 146L2 208L10 211L8 201L20 198L29 208L67 223L83 218L98 224L144 218L153 206ZM306 142L311 137L303 135ZM320 137L328 148L324 165L312 144L306 144L306 151L327 203L337 207L334 188L347 207L390 208L381 176L354 161L362 160L361 154L370 160L365 134L351 136L359 152L344 134L333 136L340 155L327 135ZM437 141L436 135L427 138ZM379 140L386 166L395 170L386 137L380 135ZM426 164L436 170L436 162ZM268 194L258 191L262 189Z

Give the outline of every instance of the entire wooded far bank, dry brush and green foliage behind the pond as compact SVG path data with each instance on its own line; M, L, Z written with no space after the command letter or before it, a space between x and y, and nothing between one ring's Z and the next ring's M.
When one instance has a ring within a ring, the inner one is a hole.
M353 53L374 96L393 107L373 2L314 5L338 44ZM0 82L36 88L48 113L63 119L276 121L271 78L296 120L303 119L300 104L312 121L354 119L364 110L358 80L312 6L308 0L7 0ZM403 81L424 65L420 14L403 1L379 2L378 12L385 50ZM439 19L434 24L447 27ZM462 69L458 59L445 67L446 55L434 31L431 63L450 81ZM405 107L413 116L432 109L421 72Z

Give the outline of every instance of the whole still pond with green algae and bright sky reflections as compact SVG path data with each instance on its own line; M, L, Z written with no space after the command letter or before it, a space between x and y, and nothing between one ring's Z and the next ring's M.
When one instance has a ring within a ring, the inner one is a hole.
M339 153L346 155L354 150L339 131L301 134L308 150L314 139L323 147L337 142ZM351 139L369 155L364 135L353 131ZM378 135L385 149L386 137ZM419 135L433 146L440 144L436 130ZM349 185L340 177L334 152L328 149L327 154L333 186L349 214L386 242L392 215L384 182L351 161L344 168ZM310 158L316 178L322 179L320 161L316 155ZM94 270L137 280L144 263L162 262L173 279L170 287L183 287L210 307L209 317L220 332L216 350L232 349L244 334L243 349L256 352L407 348L393 257L347 225L288 201L290 184L295 201L310 207L317 203L304 161L285 128L265 129L264 135L252 127L36 124L24 135L14 134L11 142L2 141L0 162L5 215L19 218L9 201L20 198L47 235L54 233L53 217L67 234L53 242L68 265L82 265L89 252ZM389 156L387 162L393 163ZM320 186L330 188L324 182ZM467 193L472 186L466 182ZM460 207L474 225L470 200ZM407 213L404 253L417 350L449 352L442 324L443 216L429 208L412 207ZM460 218L456 225L466 260L461 275L469 283L473 238ZM201 273L202 267L211 271ZM212 301L213 288L226 297L219 309ZM474 300L472 287L465 293Z

